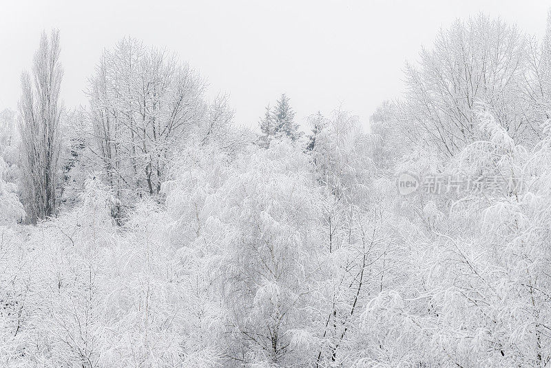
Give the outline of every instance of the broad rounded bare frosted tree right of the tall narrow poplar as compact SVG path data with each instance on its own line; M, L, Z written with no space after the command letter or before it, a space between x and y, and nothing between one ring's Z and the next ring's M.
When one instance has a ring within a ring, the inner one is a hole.
M94 151L118 198L158 194L171 155L205 116L204 90L198 73L166 50L123 39L103 53L88 94Z

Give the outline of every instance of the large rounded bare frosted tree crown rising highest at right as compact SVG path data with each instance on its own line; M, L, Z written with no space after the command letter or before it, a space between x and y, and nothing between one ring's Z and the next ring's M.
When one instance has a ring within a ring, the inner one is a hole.
M539 125L519 96L526 79L526 41L516 27L479 14L457 20L406 67L409 134L427 149L453 156L474 141L473 109L485 103L515 141L529 143Z

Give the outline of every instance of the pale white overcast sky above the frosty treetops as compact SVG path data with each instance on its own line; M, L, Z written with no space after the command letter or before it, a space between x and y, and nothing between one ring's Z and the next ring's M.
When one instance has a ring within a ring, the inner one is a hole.
M17 109L21 70L30 68L43 29L58 28L67 108L103 48L124 36L166 46L228 92L236 123L256 126L285 92L297 118L342 106L366 124L399 96L402 69L439 28L478 12L539 37L549 1L0 1L0 110Z

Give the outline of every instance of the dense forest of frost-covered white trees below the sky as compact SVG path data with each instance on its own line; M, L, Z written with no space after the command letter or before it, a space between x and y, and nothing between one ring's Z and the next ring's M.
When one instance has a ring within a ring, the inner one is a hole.
M256 129L132 37L65 106L37 34L0 112L0 366L551 367L551 15L435 34L368 125L281 91Z

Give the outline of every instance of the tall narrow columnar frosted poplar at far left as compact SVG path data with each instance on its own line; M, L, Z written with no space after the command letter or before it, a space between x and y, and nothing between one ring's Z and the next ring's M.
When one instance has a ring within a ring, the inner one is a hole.
M49 39L44 32L34 54L32 78L26 72L21 76L21 189L31 223L54 215L58 205L59 88L63 78L60 51L59 32L52 31Z

